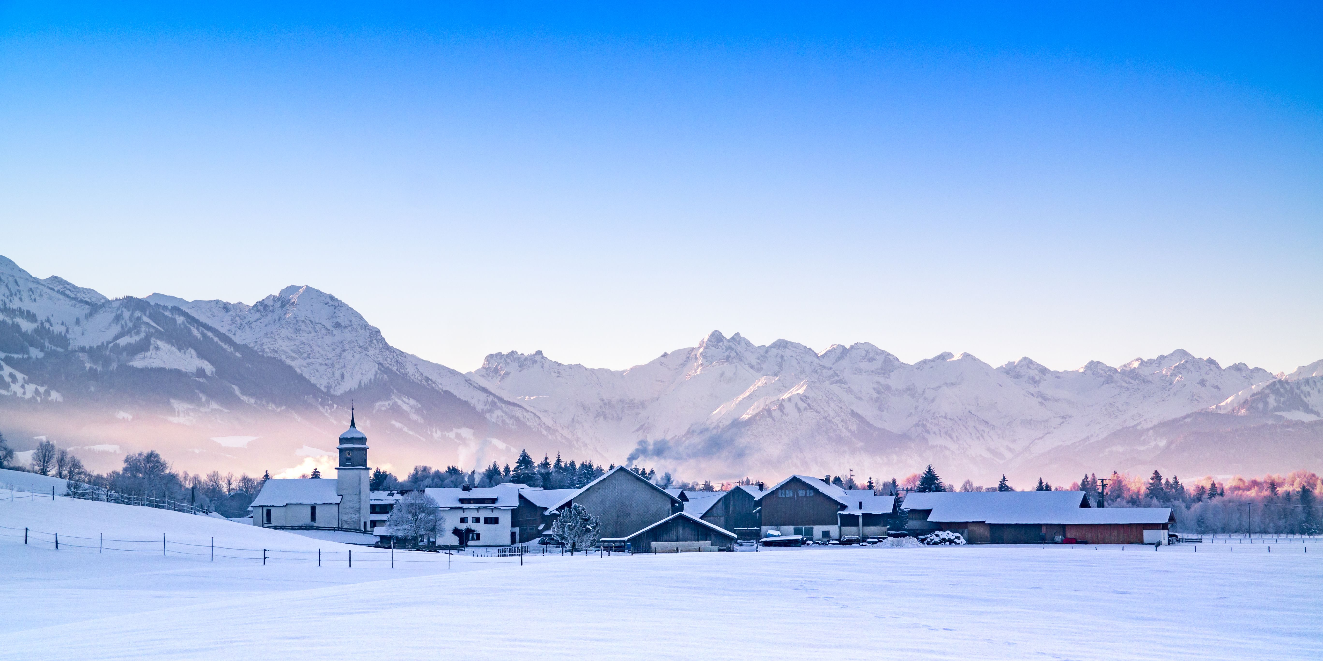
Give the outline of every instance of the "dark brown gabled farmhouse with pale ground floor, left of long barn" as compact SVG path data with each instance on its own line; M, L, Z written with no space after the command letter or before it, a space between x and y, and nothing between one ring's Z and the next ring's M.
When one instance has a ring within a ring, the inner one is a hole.
M792 475L757 496L762 516L759 531L762 537L769 530L777 530L806 539L839 539L841 525L859 530L860 517L865 530L877 529L875 524L878 522L885 526L885 514L880 509L894 504L885 498L892 496L873 496L872 489L847 490L816 477ZM853 514L849 514L851 506L856 508ZM841 517L841 513L847 516Z

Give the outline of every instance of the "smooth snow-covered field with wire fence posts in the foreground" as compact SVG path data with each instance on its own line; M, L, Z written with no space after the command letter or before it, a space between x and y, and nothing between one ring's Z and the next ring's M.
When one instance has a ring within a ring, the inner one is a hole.
M455 557L450 568L397 551L392 568L381 551L229 521L7 497L0 658L1323 658L1312 543ZM24 526L60 531L61 550L11 537ZM64 542L99 533L143 549ZM175 539L212 537L304 554L263 566L175 553ZM318 567L318 549L335 561Z

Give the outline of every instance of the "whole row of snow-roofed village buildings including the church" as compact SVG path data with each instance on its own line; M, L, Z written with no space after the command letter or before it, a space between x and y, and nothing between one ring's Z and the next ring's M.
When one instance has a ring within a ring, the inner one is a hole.
M728 490L665 489L626 467L586 485L373 490L368 438L351 415L337 477L266 480L255 526L369 533L389 547L556 547L570 553L730 551L740 545L1167 545L1171 508L1103 508L1081 490L893 492L806 475ZM1095 506L1097 505L1097 506ZM910 542L914 543L914 542Z

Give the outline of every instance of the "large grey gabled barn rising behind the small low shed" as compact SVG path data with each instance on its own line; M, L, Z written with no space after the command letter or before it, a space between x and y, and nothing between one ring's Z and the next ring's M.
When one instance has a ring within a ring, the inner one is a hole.
M634 534L680 512L683 505L679 497L623 465L607 471L579 489L562 490L569 493L544 512L550 514L570 505L581 505L598 518L601 537Z

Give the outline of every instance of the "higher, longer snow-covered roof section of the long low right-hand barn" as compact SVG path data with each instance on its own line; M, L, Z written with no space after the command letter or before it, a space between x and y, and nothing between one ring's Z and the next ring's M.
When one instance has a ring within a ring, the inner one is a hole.
M910 493L901 506L931 510L927 520L939 524L1068 524L1078 522L1089 498L1084 492Z

